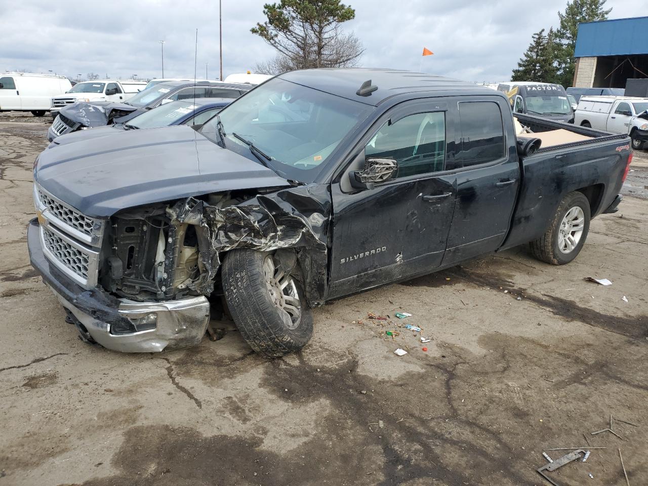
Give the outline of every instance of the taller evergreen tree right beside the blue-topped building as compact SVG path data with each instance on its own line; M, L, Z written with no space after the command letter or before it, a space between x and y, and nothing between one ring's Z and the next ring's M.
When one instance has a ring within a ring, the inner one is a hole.
M612 8L603 8L606 0L572 0L567 2L564 13L558 12L561 20L555 32L555 62L558 71L558 82L562 86L572 86L576 47L576 35L579 23L606 20Z

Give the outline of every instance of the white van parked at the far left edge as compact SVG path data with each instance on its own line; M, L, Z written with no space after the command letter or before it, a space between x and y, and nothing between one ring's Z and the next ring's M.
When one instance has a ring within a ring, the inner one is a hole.
M65 76L0 73L0 111L31 111L42 117L50 110L52 97L71 87Z

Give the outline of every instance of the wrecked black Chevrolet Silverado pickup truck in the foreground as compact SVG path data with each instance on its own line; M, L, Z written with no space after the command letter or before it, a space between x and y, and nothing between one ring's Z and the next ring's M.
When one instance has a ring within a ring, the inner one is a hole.
M280 356L329 299L522 244L576 257L616 211L630 140L516 119L503 93L438 76L281 75L203 126L43 151L30 259L106 348L195 345L232 319Z

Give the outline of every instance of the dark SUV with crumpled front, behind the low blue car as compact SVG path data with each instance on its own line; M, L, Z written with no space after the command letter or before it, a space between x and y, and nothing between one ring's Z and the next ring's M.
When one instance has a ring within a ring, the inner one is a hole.
M125 123L141 113L172 101L190 101L194 98L236 99L249 89L248 84L168 81L140 91L123 103L90 101L69 104L61 108L47 130L47 140L51 142L60 135L87 128Z

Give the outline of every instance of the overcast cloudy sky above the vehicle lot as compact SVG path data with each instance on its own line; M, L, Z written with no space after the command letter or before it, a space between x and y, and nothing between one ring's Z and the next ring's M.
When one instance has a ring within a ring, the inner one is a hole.
M262 0L222 0L224 75L252 69L274 52L249 32L264 19ZM351 0L345 23L365 47L365 67L413 69L474 82L507 80L531 34L558 25L566 0ZM608 0L610 18L636 16L636 2ZM75 78L133 74L192 76L198 29L198 77L218 76L218 1L0 0L0 72ZM421 57L423 47L434 56Z

